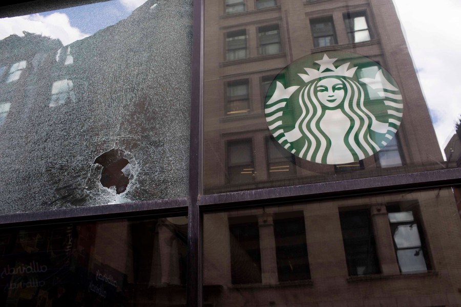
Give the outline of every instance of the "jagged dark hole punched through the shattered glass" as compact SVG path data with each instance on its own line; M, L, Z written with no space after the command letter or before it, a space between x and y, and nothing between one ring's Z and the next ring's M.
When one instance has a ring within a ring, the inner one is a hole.
M123 193L130 183L131 164L124 158L122 149L112 148L102 153L94 160L94 163L102 165L101 184L110 188L115 186L117 194Z

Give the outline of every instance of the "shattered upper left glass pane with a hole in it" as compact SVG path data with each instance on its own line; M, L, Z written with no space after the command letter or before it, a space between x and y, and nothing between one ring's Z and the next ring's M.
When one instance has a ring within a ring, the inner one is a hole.
M130 6L0 19L0 213L187 196L192 0Z

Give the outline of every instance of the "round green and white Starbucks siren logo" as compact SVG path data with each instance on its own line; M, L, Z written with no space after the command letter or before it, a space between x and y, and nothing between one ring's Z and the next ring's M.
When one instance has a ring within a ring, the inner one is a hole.
M294 155L323 164L374 155L395 136L402 112L397 84L379 63L338 51L291 63L265 99L276 140Z

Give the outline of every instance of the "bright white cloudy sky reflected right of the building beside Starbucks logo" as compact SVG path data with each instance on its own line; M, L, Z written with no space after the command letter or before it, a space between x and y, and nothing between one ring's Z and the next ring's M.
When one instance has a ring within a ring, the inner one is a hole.
M394 0L442 150L461 115L461 3Z

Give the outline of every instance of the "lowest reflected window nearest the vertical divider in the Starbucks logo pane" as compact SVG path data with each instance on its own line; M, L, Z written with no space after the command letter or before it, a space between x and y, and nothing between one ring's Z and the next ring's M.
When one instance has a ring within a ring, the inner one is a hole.
M227 175L230 183L253 182L255 167L252 140L227 142Z

